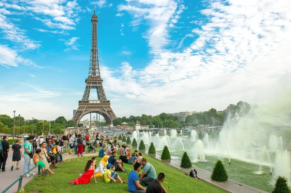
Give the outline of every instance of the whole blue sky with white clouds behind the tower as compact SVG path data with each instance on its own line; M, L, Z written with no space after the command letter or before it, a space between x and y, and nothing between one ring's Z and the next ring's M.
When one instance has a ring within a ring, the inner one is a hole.
M291 72L288 0L1 0L0 114L72 118L94 5L117 117L259 103Z

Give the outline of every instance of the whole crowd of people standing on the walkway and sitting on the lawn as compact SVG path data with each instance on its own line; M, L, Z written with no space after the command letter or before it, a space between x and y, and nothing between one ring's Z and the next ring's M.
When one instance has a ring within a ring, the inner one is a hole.
M91 178L94 178L96 183L96 178L103 178L106 183L119 181L121 184L124 184L128 181L128 190L131 193L167 193L161 184L165 178L164 173L157 175L155 167L147 162L141 152L135 150L131 153L132 147L128 147L126 144L120 146L117 137L111 139L108 136L103 137L97 133L96 136L92 137L91 143L89 142L90 138L89 134L82 135L77 132L70 135L64 134L62 137L54 137L52 135L45 138L43 135L39 137L31 135L25 139L24 150L22 150L19 144L19 139L16 139L16 144L12 146L11 171L13 171L15 163L15 169L20 169L19 161L23 157L24 174L31 170L32 163L41 168L42 175L47 175L48 172L53 174L54 172L50 170L50 167L57 168L58 166L56 165L58 163L64 162L60 145L69 147L69 154L75 153L78 157L83 157L85 146L90 145L94 148L100 147L97 156L101 158L101 161L96 164L97 157L92 157L91 160L88 160L84 173L80 174L81 177L70 181L71 185L87 184ZM10 148L7 139L7 136L4 136L0 146L0 167L2 172L6 171L5 163ZM117 158L117 152L120 154L119 158ZM128 173L124 169L124 164L131 165L133 169ZM138 175L141 170L141 174ZM123 180L117 172L128 175L128 179ZM32 175L34 173L29 172L25 177ZM194 171L191 170L190 176L199 179L195 169ZM141 184L146 186L146 188Z

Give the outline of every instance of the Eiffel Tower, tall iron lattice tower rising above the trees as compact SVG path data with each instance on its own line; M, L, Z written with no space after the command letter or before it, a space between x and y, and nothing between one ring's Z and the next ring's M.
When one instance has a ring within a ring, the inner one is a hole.
M92 40L91 40L91 52L90 52L90 64L89 64L89 74L86 78L86 88L83 94L83 98L79 101L79 107L74 114L73 120L74 124L78 125L81 118L89 113L98 113L103 116L108 125L111 125L112 120L116 119L110 101L107 100L104 89L103 89L103 79L100 76L99 68L99 56L98 56L98 38L97 38L97 23L98 17L95 14L91 18L92 22ZM97 90L98 100L89 100L91 89Z

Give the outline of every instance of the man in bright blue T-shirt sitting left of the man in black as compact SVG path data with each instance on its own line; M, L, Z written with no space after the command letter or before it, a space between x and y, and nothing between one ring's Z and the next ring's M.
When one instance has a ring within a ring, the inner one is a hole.
M144 188L139 183L139 179L137 176L137 173L141 170L141 163L135 163L134 164L134 170L131 170L129 172L129 178L128 178L128 187L129 192L131 193L145 193L146 188Z

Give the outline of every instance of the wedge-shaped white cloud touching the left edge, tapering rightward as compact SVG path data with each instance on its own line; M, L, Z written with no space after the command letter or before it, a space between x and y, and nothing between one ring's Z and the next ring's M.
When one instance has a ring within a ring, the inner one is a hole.
M31 59L24 59L17 52L7 45L0 45L0 65L10 68L19 65L30 66L32 68L42 68L36 65Z

